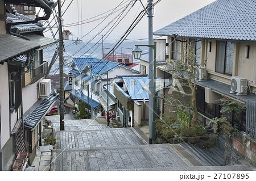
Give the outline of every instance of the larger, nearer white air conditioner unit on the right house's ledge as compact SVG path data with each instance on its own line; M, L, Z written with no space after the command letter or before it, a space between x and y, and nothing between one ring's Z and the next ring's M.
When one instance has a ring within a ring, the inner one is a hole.
M247 92L247 79L234 76L231 77L231 94L237 93L237 95L246 95Z

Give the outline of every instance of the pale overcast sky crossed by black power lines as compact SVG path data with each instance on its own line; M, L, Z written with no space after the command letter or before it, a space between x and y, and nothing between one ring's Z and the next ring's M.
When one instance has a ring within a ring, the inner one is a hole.
M185 15L191 14L191 12L200 9L214 2L215 0L162 0L154 8L154 19L153 19L153 31L159 30L160 28L167 26L168 24L175 22L176 20L183 18ZM66 0L62 11L65 11L71 0ZM125 3L126 2L126 3ZM156 0L154 0L156 2ZM108 18L103 20L97 20L93 23L86 23L80 26L67 26L67 24L79 22L81 20L89 19L94 16L100 15L103 12L109 11L117 7L119 4L124 3L121 7L127 5L127 0L73 0L71 6L65 14L64 19L64 30L69 30L73 33L73 38L83 37L84 41L92 39L96 36L92 42L96 42L109 30L111 25L105 28L104 31L100 32L109 23L113 23L114 17L118 14L109 15ZM147 5L147 0L142 0L144 5ZM130 6L129 6L130 7ZM119 7L120 8L120 7ZM123 32L127 30L130 24L133 22L135 16L139 11L143 9L141 3L137 1L135 6L127 13L127 16L118 24L117 28L110 33L109 37L105 40L106 42L116 41ZM111 11L108 12L108 14ZM121 11L119 11L121 12ZM127 12L127 11L125 11ZM106 15L106 14L105 14ZM100 25L99 25L100 24ZM93 30L94 27L98 26ZM92 31L93 30L93 31ZM90 32L92 31L92 32ZM86 35L90 32L88 35ZM100 33L99 33L100 32ZM98 35L99 34L99 35ZM46 33L49 36L49 31ZM86 36L85 36L86 35ZM144 18L139 22L138 26L130 33L127 39L145 39L148 36L148 18Z

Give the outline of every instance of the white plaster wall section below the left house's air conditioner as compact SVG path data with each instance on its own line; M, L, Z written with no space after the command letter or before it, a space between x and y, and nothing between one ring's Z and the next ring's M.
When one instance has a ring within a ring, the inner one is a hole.
M27 87L22 88L22 101L23 101L23 112L25 113L29 108L38 101L38 89L37 85L41 81L41 79L28 85Z

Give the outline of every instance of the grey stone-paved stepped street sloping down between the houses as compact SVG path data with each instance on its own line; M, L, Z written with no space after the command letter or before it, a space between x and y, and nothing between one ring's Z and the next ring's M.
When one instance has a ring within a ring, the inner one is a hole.
M181 145L148 145L134 128L110 128L87 119L67 120L65 131L59 131L59 120L51 120L57 137L51 170L236 170L208 167Z

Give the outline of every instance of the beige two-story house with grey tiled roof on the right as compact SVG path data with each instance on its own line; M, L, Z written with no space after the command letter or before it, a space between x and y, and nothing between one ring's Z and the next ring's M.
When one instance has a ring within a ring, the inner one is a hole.
M230 123L254 137L255 6L256 2L250 0L217 0L154 32L154 35L167 36L169 62L185 61L181 56L185 44L195 45L196 61L201 65L199 76L207 73L207 80L196 82L197 119L207 124L213 117L220 117L221 106L217 100L227 96L247 104L247 111L237 112L242 118L237 120L232 115Z

